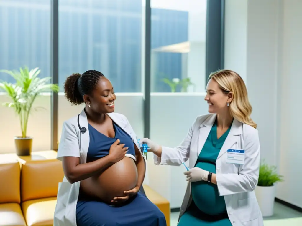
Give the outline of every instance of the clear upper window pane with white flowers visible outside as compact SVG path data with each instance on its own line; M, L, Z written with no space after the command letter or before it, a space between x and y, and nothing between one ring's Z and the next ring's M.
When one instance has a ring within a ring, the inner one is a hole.
M151 92L204 92L206 0L151 0Z

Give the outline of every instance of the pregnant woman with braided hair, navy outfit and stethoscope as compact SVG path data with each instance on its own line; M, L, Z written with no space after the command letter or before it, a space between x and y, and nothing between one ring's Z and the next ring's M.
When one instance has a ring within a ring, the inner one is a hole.
M110 81L91 70L69 76L64 89L71 104L85 108L63 124L57 159L65 177L54 226L165 226L142 191L145 160L127 118L113 113Z

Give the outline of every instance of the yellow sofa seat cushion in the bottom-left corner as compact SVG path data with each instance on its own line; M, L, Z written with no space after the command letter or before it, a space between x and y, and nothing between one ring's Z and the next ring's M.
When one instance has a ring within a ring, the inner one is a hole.
M26 226L20 204L0 204L0 226Z

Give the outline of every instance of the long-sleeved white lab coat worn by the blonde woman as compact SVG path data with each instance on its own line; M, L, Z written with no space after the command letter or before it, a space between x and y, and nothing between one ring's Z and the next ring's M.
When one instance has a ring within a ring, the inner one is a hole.
M179 166L189 159L189 168L193 168L215 119L216 114L198 116L182 143L175 148L162 147L162 156L154 156L154 163ZM226 163L228 149L245 150L244 164ZM233 226L263 226L262 214L254 192L258 183L259 165L258 130L234 119L216 160L219 195L224 196ZM184 214L191 201L191 182L188 182L179 217Z

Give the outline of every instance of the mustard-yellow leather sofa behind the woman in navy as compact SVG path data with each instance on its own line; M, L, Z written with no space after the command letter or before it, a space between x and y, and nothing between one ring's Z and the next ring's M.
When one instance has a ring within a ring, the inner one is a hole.
M18 157L0 154L0 226L52 226L58 183L64 173L56 152ZM35 155L35 156L34 156ZM170 225L170 204L149 186L146 196Z

